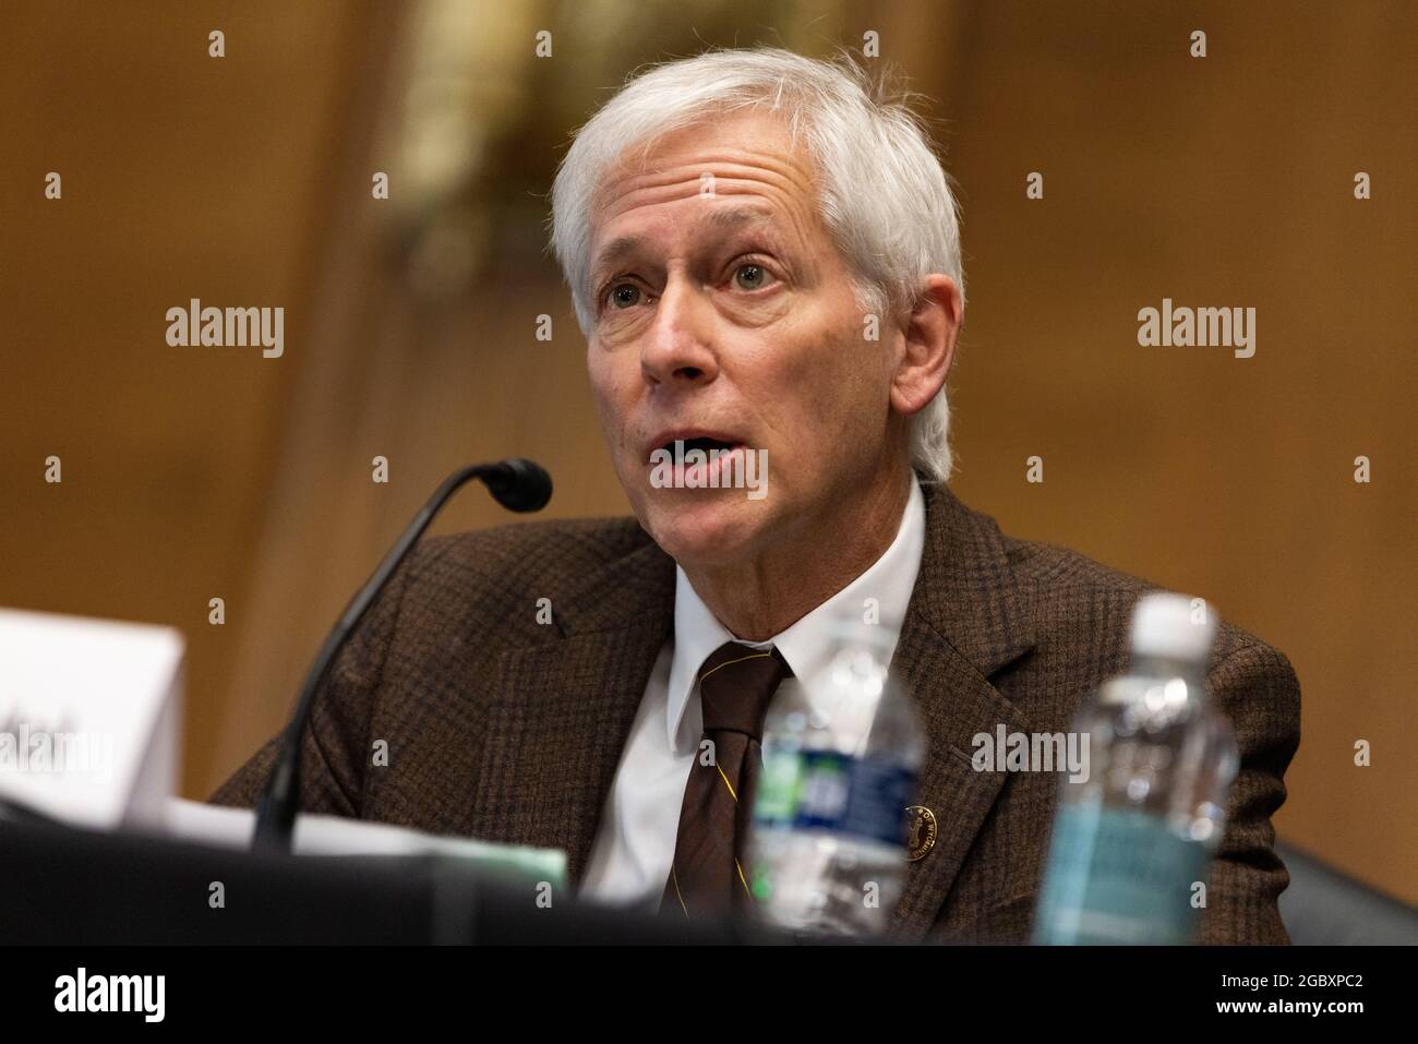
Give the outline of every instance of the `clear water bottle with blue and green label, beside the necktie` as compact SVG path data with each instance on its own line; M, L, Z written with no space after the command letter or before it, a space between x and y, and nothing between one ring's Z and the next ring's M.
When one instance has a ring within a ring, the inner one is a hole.
M926 739L888 677L891 634L839 624L825 682L786 681L764 718L749 864L769 923L881 933L900 898Z

